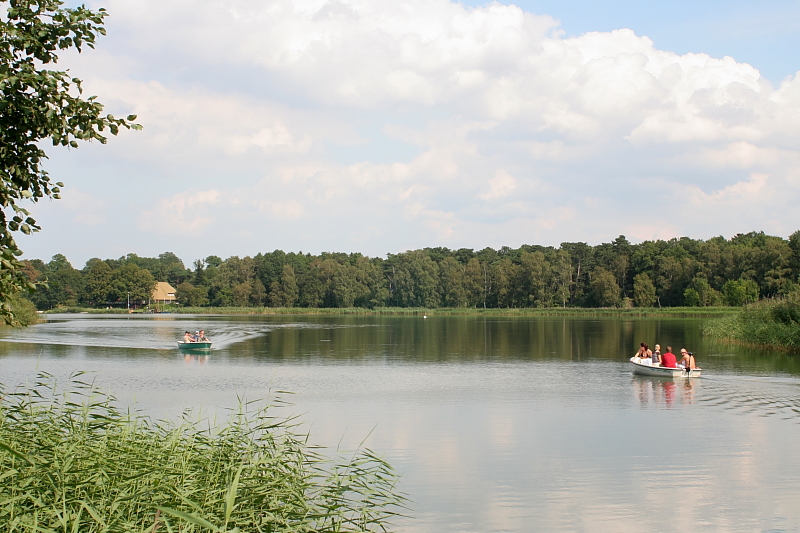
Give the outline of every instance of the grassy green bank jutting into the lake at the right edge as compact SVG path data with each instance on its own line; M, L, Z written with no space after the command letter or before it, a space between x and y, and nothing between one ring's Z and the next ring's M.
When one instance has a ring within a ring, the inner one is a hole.
M748 305L707 324L704 332L728 342L800 350L800 293Z

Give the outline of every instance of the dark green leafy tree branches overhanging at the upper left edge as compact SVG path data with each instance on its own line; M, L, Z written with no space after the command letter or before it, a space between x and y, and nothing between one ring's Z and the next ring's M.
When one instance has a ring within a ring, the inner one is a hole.
M9 298L34 288L13 233L40 229L20 203L58 199L63 187L42 167L47 154L40 143L77 148L78 141L105 143L106 131L139 126L134 115L104 115L94 96L82 96L81 80L48 68L61 50L94 48L105 33L105 10L63 8L61 0L0 3L8 6L0 18L0 316L12 322Z

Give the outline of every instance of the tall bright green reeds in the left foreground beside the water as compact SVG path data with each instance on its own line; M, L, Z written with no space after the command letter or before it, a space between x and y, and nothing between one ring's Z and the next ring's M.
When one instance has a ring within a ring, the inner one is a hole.
M325 457L274 407L245 403L221 427L156 422L77 376L51 383L0 392L7 533L386 531L403 509L385 461Z

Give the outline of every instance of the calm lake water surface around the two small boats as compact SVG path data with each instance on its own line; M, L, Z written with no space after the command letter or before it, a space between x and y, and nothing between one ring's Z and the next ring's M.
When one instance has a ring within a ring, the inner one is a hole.
M0 331L0 383L94 371L155 416L292 391L312 441L402 474L404 532L800 531L800 360L700 319L51 316ZM175 341L204 328L210 356ZM639 342L699 380L632 376Z

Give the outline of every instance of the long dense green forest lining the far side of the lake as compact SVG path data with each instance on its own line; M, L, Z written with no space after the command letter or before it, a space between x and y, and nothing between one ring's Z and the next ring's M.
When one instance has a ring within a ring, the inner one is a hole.
M47 283L37 308L149 302L156 281L187 307L673 307L741 306L799 287L800 231L707 241L687 237L631 244L624 236L589 246L424 248L386 259L358 253L276 250L209 256L186 268L175 254L90 259L78 270L63 255L25 262Z

